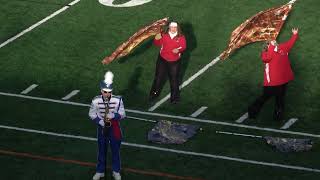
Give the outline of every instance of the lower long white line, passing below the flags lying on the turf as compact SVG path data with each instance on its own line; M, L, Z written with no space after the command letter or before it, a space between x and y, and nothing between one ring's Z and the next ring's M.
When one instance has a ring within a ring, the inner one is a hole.
M42 134L42 135L71 138L71 139L87 140L87 141L96 141L97 140L96 138L92 138L92 137L70 135L70 134L60 134L60 133L54 133L54 132L48 132L48 131L40 131L40 130L19 128L19 127L12 127L12 126L4 126L4 125L0 125L0 128L35 133L35 134ZM161 148L161 147L156 147L156 146L149 146L149 145L128 143L128 142L122 142L122 144L125 146L141 148L141 149L157 150L157 151L171 152L171 153L176 153L176 154L183 154L183 155L203 157L203 158L222 159L222 160L229 160L229 161L235 161L235 162L240 162L240 163L262 165L262 166L269 166L269 167L279 167L279 168L285 168L285 169L320 173L320 169L308 168L308 167L302 167L302 166L269 163L269 162L263 162L263 161L255 161L255 160L234 158L234 157L229 157L229 156L221 156L221 155L214 155L214 154L197 153L197 152L192 152L192 151L183 151L183 150L176 150L176 149L169 149L169 148Z

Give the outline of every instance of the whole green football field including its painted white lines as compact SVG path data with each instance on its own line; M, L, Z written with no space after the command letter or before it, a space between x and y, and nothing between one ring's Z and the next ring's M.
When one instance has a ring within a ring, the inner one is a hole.
M274 100L257 119L241 118L262 93L262 43L201 69L226 48L238 25L287 0L101 2L105 5L98 0L0 0L0 179L92 178L96 126L88 111L108 70L115 74L114 94L122 95L127 113L121 122L122 179L319 179L320 2L298 0L278 37L285 41L293 27L299 28L289 56L295 80L289 83L281 122L272 119ZM181 72L187 85L178 104L166 99L168 82L161 96L148 102L159 53L152 39L127 57L101 64L141 27L164 17L181 23L188 46ZM147 133L159 120L203 130L183 145L148 142ZM281 153L263 139L217 131L310 138L314 147Z

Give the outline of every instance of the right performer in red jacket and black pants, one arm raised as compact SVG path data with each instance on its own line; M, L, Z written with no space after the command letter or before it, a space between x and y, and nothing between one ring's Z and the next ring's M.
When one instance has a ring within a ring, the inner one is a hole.
M267 48L261 53L264 63L263 94L248 107L249 118L256 118L263 104L275 96L276 104L274 119L280 121L284 110L284 98L288 82L294 79L289 61L289 52L298 38L298 29L292 29L289 41L278 44L276 40L268 43Z

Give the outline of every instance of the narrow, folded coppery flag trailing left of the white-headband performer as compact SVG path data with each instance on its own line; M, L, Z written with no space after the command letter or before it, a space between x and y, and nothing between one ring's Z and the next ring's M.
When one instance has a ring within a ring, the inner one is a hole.
M168 23L168 18L160 19L136 32L126 42L122 43L110 56L102 60L103 64L109 64L113 60L128 55L141 42L161 32L162 26Z

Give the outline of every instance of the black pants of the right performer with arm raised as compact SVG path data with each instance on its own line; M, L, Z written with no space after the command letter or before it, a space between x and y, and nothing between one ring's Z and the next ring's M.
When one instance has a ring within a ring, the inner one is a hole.
M263 104L270 99L272 96L275 96L275 111L274 119L281 120L281 116L284 110L284 97L287 90L287 83L279 86L264 86L263 94L256 99L256 101L249 106L248 114L249 118L255 118L260 112Z

